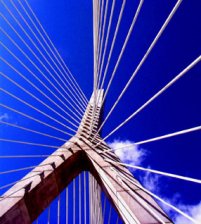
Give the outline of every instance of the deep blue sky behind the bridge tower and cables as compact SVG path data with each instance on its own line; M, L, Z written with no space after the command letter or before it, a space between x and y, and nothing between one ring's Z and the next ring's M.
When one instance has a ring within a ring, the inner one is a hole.
M17 18L20 18L17 12L12 8L11 3L8 0L5 0L4 2L12 9L14 15ZM17 1L14 2L17 3ZM29 3L89 99L93 91L92 2L83 0L29 0ZM109 9L111 8L111 3L112 1L109 1ZM146 0L144 2L105 102L103 119L121 93L175 3L175 0ZM138 1L127 0L126 2L123 19L120 24L114 52L112 54L107 73L106 83L114 69L137 5ZM117 0L106 57L109 53L109 47L114 35L120 7L121 1ZM111 117L104 125L102 130L103 137L144 104L150 97L152 97L200 55L200 8L201 2L199 0L184 0L181 3L170 24L167 26L142 68L137 73L127 92L113 111ZM0 5L0 12L7 17L9 21L11 21L12 25L20 34L23 34L2 4ZM19 46L28 53L35 62L36 60L33 55L23 45L19 38L17 38L16 34L14 34L2 17L0 19L0 24L1 27L13 37L16 43L19 44ZM23 22L22 24L25 29L28 30ZM30 31L28 31L28 33L31 34ZM0 41L9 47L16 56L21 58L30 69L32 69L36 74L38 73L38 71L33 68L28 60L23 57L23 55L16 49L16 47L14 47L14 45L12 45L2 32L0 35ZM27 38L26 41L30 46L32 45L30 40ZM24 69L23 66L9 55L2 45L0 46L0 56L14 65L21 73L28 75L26 69ZM5 63L2 61L0 61L0 63L0 68L3 73L28 88L30 92L36 94L36 96L40 97L44 102L47 102L47 99L45 99L44 96L41 96L41 94L39 94L33 87L17 76L12 69L5 65ZM41 66L40 68L42 69ZM200 73L201 65L199 63L158 99L152 102L146 109L108 138L108 142L113 142L115 139L119 141L129 140L136 142L201 125ZM34 83L37 83L30 74L29 78ZM44 78L41 79L46 83ZM50 79L52 80L52 78ZM29 103L33 103L37 108L48 112L44 106L33 100L32 97L24 94L23 91L10 84L10 82L2 76L0 77L0 85L1 88L10 91ZM37 83L37 85L39 88L44 89L41 84ZM47 93L46 90L44 91ZM29 113L38 119L43 119L43 121L51 123L58 128L62 128L62 126L57 124L55 121L45 118L33 109L30 109L7 96L2 91L0 94L1 103L12 106L18 110L22 110L24 113ZM54 106L51 103L50 105ZM44 131L49 134L68 139L65 134L38 125L34 121L23 118L22 116L1 107L0 115L5 116L5 114L7 117L2 119L9 121L10 123L15 123L29 128L34 127L35 130ZM56 118L58 117L56 116ZM7 139L16 139L21 141L26 140L56 146L61 144L60 141L46 137L39 137L38 135L20 131L5 125L1 125L0 134L1 138ZM49 154L52 151L47 148L31 147L5 142L1 142L0 144L1 155L44 154L46 152ZM142 166L150 166L153 169L201 179L200 131L154 143L144 144L138 148L138 150L142 149L144 152L144 157L140 163ZM8 161L1 160L0 169L3 171L11 169L11 167L18 168L36 165L39 161L39 159L28 159L8 164ZM12 177L7 175L5 179L0 178L0 184L4 185L17 180L23 176L23 174L24 173L20 173ZM136 172L135 175L142 182L143 180L146 180L145 173L142 171ZM166 177L156 178L155 176L151 176L148 178L155 181L154 184L156 184L156 187L154 191L163 198L167 198L175 205L184 205L187 208L189 205L198 205L201 201L201 188L198 184L186 183L184 181Z

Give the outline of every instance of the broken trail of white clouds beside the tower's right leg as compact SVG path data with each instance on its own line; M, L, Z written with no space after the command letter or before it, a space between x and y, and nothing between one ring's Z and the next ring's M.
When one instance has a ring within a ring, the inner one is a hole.
M132 144L132 146L127 146ZM142 161L148 155L147 151L138 147L134 144L134 142L126 140L114 140L108 145L114 150L115 154L119 156L122 162L128 163L131 165L142 165ZM127 147L125 147L127 146ZM150 168L150 167L148 167ZM149 191L155 193L157 196L162 198L164 201L168 202L169 204L174 205L175 207L179 208L184 213L188 214L197 223L201 224L201 201L198 205L184 205L181 204L180 198L181 195L175 193L171 199L164 198L160 192L160 186L163 184L162 179L159 175L155 175L149 172L143 172L140 175L140 181L142 185ZM166 213L172 214L173 221L175 224L189 224L191 223L190 220L186 219L182 215L173 212L173 210L164 204L161 204L162 208L166 211Z

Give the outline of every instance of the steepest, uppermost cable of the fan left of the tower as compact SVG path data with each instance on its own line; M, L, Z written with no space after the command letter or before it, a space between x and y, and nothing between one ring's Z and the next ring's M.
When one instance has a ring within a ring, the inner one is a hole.
M41 22L39 21L39 19L37 18L36 14L34 13L34 11L32 10L31 6L29 5L29 3L27 2L27 0L24 0L28 9L30 10L30 12L32 13L33 17L35 18L35 20L37 21L38 25L40 26L41 30L43 31L43 33L45 34L47 40L49 41L50 45L53 47L54 51L56 52L57 56L59 57L59 59L61 60L61 67L64 70L65 74L67 75L67 77L69 78L69 80L72 83L72 86L74 88L72 88L73 91L77 90L77 92L80 94L80 97L83 99L83 101L85 101L86 105L88 103L88 100L86 98L86 96L84 95L83 91L81 90L80 86L78 85L77 81L75 80L74 76L72 75L71 71L69 70L69 68L67 67L66 63L64 62L63 58L61 57L61 55L59 54L58 50L56 49L56 47L54 46L54 44L52 43L51 39L49 38L47 32L45 31L45 29L43 28ZM56 57L57 58L57 57ZM59 62L59 60L58 60ZM66 79L67 80L67 79ZM69 85L71 86L71 85ZM75 91L75 94L77 94L77 92Z

